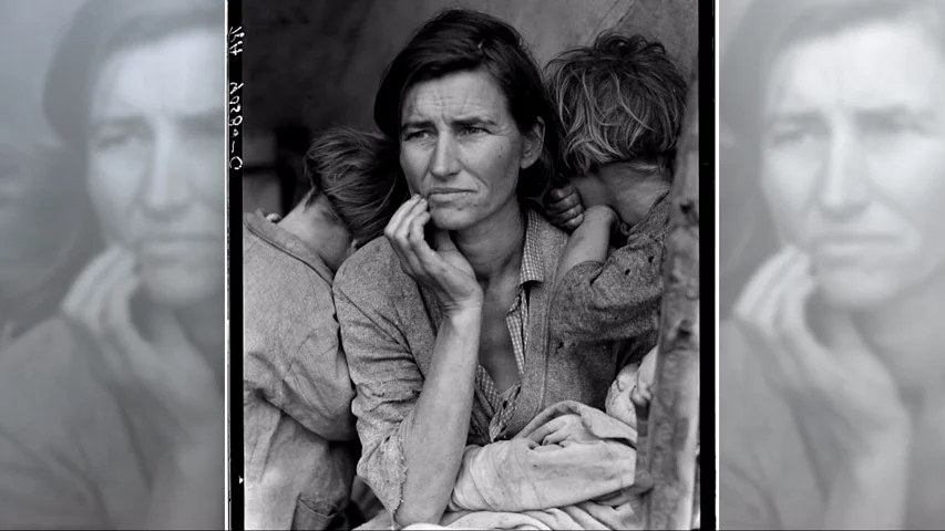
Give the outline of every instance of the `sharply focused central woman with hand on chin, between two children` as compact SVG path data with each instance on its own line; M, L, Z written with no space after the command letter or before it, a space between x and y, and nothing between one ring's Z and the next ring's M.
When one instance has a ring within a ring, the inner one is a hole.
M388 67L374 119L413 197L336 278L358 473L400 524L438 523L466 445L511 438L563 399L603 408L618 348L578 354L547 334L566 237L527 199L553 175L558 133L514 29L435 17Z

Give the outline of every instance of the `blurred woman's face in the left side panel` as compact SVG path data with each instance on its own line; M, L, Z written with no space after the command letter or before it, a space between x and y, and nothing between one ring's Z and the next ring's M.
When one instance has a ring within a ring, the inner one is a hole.
M151 298L171 305L224 287L222 39L198 29L113 53L92 92L92 201Z

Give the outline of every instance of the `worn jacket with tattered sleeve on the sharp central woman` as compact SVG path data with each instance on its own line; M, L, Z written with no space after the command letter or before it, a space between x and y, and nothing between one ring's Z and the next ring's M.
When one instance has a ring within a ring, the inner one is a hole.
M542 277L554 279L566 236L541 216L531 219L538 223L535 238ZM603 409L607 389L623 363L619 357L630 351L615 342L575 342L549 335L551 288L551 281L534 282L530 288L520 404L506 437L562 400ZM433 294L403 272L383 238L368 243L341 266L335 295L357 392L352 410L363 449L358 475L393 514L407 473L402 420L417 404L430 369L442 313ZM480 395L477 392L470 419L471 445L492 441L490 417Z

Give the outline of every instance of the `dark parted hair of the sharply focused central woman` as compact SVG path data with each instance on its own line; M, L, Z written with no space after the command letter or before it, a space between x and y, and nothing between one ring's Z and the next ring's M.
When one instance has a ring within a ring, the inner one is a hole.
M473 70L492 75L523 134L540 118L544 122L542 156L521 171L517 186L520 199L544 194L557 167L557 118L522 35L495 17L450 9L424 23L388 65L374 100L374 122L399 147L408 91L423 81Z

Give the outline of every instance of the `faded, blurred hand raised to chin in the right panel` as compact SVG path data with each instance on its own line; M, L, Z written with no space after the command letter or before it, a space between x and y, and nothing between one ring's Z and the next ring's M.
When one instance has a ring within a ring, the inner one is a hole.
M907 440L908 415L882 361L862 344L828 347L807 325L805 302L816 289L810 267L805 254L787 248L748 283L735 315L752 355L805 431L834 447L831 454L871 454L885 441ZM849 317L831 324L853 332Z

